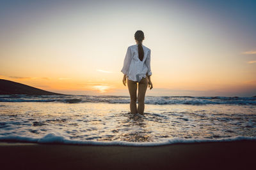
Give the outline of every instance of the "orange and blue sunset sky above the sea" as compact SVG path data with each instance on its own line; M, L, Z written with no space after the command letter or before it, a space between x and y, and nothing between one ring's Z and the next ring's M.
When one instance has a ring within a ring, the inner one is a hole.
M0 78L63 94L128 96L134 33L148 96L255 96L256 1L0 1Z

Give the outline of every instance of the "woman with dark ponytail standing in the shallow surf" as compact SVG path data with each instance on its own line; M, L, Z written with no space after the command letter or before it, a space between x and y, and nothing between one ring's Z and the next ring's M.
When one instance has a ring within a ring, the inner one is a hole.
M150 52L151 50L142 45L144 40L144 33L136 31L134 34L136 45L131 45L127 48L127 53L124 59L124 66L122 73L124 73L123 84L126 83L131 97L130 110L132 114L144 113L144 99L148 88L153 88L150 76ZM138 85L137 85L138 83ZM137 86L138 86L138 108L136 107L137 101Z

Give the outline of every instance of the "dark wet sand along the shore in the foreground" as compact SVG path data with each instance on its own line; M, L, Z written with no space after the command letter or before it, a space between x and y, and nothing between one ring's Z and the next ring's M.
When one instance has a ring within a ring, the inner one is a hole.
M167 146L0 143L0 169L255 169L256 142Z

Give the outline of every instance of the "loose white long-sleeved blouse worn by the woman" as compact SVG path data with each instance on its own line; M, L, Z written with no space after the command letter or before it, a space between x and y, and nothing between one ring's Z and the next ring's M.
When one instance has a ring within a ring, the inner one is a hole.
M140 82L142 78L146 78L146 74L148 76L152 75L150 67L151 50L144 45L142 47L144 50L142 61L139 59L138 45L131 45L127 48L121 72L126 74L128 80Z

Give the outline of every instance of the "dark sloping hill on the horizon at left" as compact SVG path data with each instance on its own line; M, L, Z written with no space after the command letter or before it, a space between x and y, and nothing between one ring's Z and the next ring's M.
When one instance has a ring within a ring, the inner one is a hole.
M0 79L0 94L63 95L4 79Z

